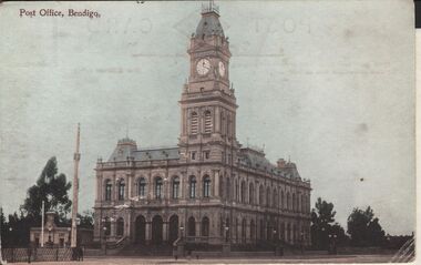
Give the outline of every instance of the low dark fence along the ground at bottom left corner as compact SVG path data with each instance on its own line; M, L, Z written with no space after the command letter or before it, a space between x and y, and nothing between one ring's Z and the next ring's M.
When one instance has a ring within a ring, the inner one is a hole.
M2 257L9 263L17 262L64 262L76 259L76 252L70 247L43 247L43 248L2 248Z

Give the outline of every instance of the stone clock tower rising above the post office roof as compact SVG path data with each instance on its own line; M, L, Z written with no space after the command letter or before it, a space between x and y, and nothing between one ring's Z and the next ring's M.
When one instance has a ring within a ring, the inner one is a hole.
M229 42L209 1L192 34L189 77L181 104L179 149L186 162L233 163L236 140L236 98L229 85Z

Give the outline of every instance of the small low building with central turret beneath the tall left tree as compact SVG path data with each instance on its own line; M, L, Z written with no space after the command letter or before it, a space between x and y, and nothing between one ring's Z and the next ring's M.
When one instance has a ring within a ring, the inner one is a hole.
M54 218L55 212L45 213L44 224L44 246L47 247L65 247L70 246L71 227L58 226ZM78 228L78 244L89 245L93 239L93 231L90 228ZM31 227L30 230L30 243L33 246L41 246L42 241L42 227Z

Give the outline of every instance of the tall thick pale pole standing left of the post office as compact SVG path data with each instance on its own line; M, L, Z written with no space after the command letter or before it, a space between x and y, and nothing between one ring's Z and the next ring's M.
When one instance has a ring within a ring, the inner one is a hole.
M78 218L78 195L79 195L79 161L81 160L81 154L79 153L81 140L81 124L78 123L76 133L76 150L73 155L74 162L74 175L73 175L73 206L72 206L72 234L71 234L71 247L76 247L78 243L78 232L76 232L76 218Z

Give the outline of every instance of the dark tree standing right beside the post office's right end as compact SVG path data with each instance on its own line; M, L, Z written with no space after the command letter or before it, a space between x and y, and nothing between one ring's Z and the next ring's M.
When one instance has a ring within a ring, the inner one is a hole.
M333 204L319 197L315 206L316 208L311 211L312 245L318 249L327 249L333 238L338 244L346 242L347 236L343 228L335 223Z

